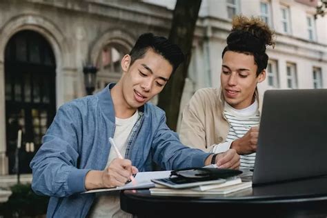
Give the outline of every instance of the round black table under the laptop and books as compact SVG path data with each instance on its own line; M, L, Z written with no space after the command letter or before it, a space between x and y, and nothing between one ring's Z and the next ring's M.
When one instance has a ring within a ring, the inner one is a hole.
M255 186L229 195L182 197L123 190L121 209L137 217L327 217L327 177Z

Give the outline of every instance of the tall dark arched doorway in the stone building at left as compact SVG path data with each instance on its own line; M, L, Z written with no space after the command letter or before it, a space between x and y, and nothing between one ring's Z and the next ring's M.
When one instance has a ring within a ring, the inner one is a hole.
M56 112L56 65L52 48L39 33L14 34L5 50L6 155L9 174L17 173L15 150L22 130L19 172L29 167Z

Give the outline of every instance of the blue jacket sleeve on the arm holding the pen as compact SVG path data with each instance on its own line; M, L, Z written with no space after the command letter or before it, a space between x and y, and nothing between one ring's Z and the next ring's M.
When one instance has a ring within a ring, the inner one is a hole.
M77 110L69 105L59 108L42 139L41 148L30 163L34 192L65 197L86 190L84 181L90 169L77 168L81 132L78 116Z

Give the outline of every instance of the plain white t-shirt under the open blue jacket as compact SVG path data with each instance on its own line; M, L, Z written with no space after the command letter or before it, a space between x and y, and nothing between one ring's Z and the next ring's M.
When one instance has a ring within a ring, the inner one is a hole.
M139 111L137 110L132 117L128 119L119 119L116 117L116 129L114 135L114 141L116 146L121 152L121 155L125 157L127 140L133 126L139 118ZM109 141L108 141L109 143ZM118 158L118 155L114 148L111 147L107 166L111 161ZM107 167L106 166L106 167ZM130 218L132 215L128 212L124 212L120 208L119 191L114 192L99 192L96 194L95 202L90 210L89 217L113 217L113 218Z

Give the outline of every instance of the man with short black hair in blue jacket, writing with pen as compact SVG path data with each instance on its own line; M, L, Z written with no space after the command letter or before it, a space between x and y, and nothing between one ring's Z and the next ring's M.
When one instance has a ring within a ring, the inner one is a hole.
M153 170L153 162L165 170L212 162L221 168L239 166L233 149L212 158L181 144L166 126L164 111L147 103L183 60L179 47L166 38L142 34L121 60L117 84L59 108L30 164L32 189L50 196L47 217L129 217L120 210L117 193L79 193L122 186L133 173ZM109 137L125 159L117 158Z

